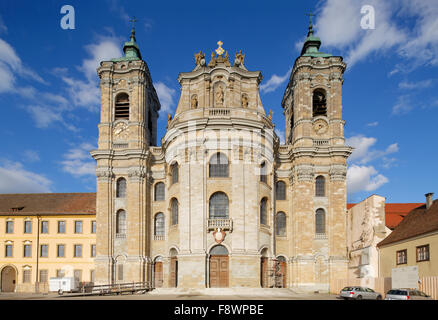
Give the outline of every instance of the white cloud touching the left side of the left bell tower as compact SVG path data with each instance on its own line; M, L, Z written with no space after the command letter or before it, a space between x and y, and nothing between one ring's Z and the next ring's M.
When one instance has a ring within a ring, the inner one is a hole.
M75 177L96 175L96 162L90 155L90 151L96 149L90 143L82 143L78 147L71 148L64 154L61 161L62 170Z

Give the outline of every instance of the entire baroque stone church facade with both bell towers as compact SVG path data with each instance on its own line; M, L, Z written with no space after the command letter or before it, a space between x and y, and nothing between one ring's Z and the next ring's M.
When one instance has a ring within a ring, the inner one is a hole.
M348 277L346 64L319 51L310 24L281 102L281 144L261 72L218 45L179 74L160 146L160 102L134 29L124 56L101 62L96 284L327 291Z

